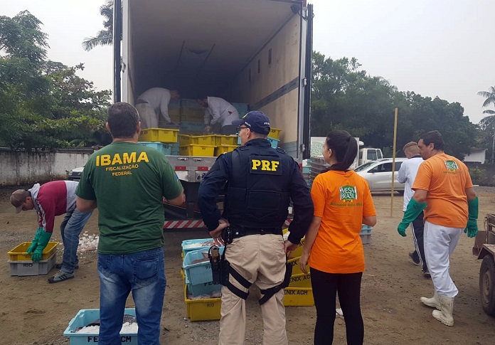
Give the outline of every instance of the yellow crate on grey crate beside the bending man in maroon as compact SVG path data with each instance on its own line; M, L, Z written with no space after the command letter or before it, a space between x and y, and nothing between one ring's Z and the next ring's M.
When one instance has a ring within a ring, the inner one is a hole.
M46 245L46 248L41 254L41 260L38 262L31 260L31 254L28 253L30 245L31 242L23 242L7 253L9 254L8 262L11 275L17 275L19 277L26 275L46 275L55 265L58 242L48 242L48 245Z

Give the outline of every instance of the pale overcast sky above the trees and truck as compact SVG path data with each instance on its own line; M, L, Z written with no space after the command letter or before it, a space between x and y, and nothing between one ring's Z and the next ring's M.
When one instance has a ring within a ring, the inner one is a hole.
M248 1L248 0L246 0ZM48 58L85 63L78 73L97 90L112 88L112 48L82 49L102 29L104 0L0 0L0 15L28 10L48 33ZM495 86L494 0L309 0L314 51L357 58L361 68L400 91L459 102L478 123ZM400 118L400 113L399 113Z

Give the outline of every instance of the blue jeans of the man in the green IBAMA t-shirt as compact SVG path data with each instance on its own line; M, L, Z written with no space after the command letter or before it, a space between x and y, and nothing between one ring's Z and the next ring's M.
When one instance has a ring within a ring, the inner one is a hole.
M127 296L136 305L138 344L160 344L161 311L165 294L163 248L139 253L98 254L100 276L100 345L120 345Z

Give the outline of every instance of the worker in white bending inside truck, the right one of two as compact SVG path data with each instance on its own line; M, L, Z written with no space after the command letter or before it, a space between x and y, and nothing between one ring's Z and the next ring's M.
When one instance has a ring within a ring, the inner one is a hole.
M233 105L220 97L201 97L196 100L205 107L205 132L230 135L235 134L239 112Z

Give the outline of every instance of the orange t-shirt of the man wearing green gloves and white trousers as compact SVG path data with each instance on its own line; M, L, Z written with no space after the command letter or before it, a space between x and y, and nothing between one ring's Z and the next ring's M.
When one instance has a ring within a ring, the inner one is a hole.
M414 190L428 191L425 221L447 228L466 227L466 189L472 186L467 166L448 154L423 161L413 183Z

